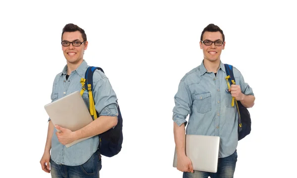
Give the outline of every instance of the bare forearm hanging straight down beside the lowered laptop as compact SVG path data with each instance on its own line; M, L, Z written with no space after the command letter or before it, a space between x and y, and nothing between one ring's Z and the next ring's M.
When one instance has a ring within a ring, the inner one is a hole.
M185 153L185 124L183 123L181 126L178 126L174 122L173 126L173 133L174 133L174 141L176 146L176 151L178 156L186 155Z

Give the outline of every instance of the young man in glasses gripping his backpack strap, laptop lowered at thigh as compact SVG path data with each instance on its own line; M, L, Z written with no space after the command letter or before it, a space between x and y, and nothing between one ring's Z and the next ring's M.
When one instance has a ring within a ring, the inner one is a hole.
M223 31L209 24L201 33L200 48L204 58L201 64L180 81L174 97L174 140L177 149L177 169L184 178L233 178L237 161L238 120L232 97L250 108L255 97L252 89L235 67L236 85L228 90L226 71L220 55L225 47ZM226 90L227 89L227 90ZM217 173L194 171L185 154L186 117L190 114L187 134L220 136Z

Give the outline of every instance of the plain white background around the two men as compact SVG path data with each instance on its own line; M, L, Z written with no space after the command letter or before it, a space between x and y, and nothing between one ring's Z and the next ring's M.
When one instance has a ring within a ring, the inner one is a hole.
M66 60L62 28L86 31L84 59L102 67L123 116L122 151L101 178L182 178L172 167L172 109L180 79L203 59L210 23L221 55L254 91L252 131L238 145L235 178L292 177L296 168L296 9L279 1L10 0L0 4L0 177L49 178L39 163L52 82Z

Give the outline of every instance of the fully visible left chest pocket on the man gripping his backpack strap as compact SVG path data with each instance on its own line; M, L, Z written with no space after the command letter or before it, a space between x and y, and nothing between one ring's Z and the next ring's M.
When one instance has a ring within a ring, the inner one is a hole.
M198 113L211 111L211 93L200 93L194 96L194 104Z

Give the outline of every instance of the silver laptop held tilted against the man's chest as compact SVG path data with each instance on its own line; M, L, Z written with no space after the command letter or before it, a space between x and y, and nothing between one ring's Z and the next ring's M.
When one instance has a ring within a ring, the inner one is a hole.
M77 131L93 121L79 91L75 91L45 105L45 110L53 125L58 125L71 131ZM60 132L59 130L57 131ZM68 148L88 138L90 137L78 139L65 146Z

